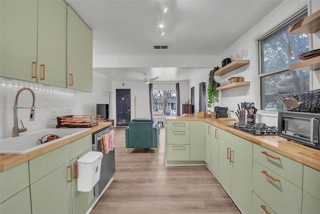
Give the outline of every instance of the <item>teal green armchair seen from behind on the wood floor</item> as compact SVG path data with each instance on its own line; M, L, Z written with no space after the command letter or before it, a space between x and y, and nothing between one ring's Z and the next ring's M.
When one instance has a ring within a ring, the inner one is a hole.
M159 124L150 119L133 119L125 129L125 153L130 148L151 148L156 153L159 142Z

